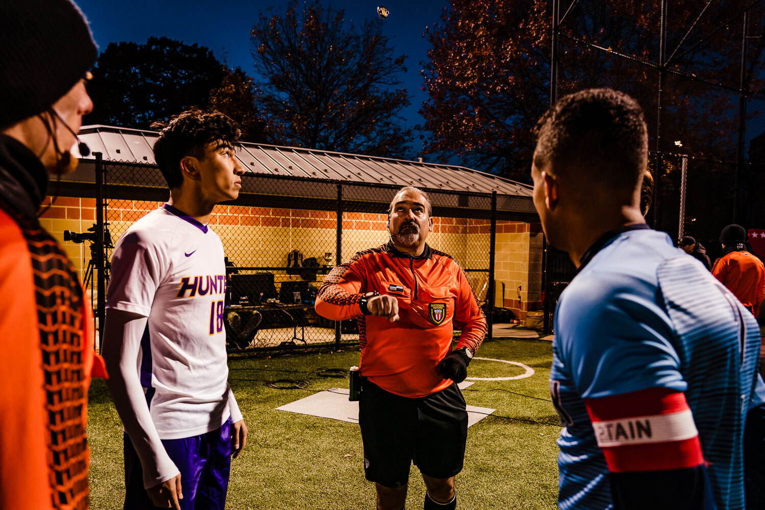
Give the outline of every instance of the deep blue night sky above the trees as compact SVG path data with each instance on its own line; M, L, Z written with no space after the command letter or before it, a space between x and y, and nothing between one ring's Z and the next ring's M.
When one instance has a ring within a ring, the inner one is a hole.
M76 0L90 20L93 36L103 50L110 42L145 42L148 37L171 37L185 44L207 46L219 60L226 60L231 67L242 67L254 76L250 50L249 31L261 11L275 5L284 10L287 2L259 0L219 0L200 2L190 0L130 0L109 2L104 0ZM325 6L343 8L347 21L357 26L365 18L376 18L378 5L389 8L390 16L383 21L383 34L390 38L394 54L405 54L407 73L402 76L406 89L412 96L412 106L405 109L404 117L409 126L422 124L418 109L427 95L422 92L421 63L427 59L428 41L422 37L426 26L441 22L441 12L449 5L448 0L334 0L322 2ZM96 108L98 106L96 105ZM415 133L415 151L422 147Z

